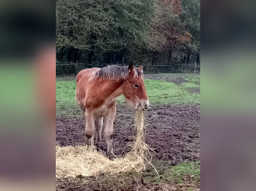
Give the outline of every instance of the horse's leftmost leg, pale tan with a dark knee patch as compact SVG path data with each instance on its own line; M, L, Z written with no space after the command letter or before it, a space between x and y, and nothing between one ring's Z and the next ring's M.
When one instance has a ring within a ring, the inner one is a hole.
M95 115L92 111L85 110L86 126L85 126L85 143L94 146L94 129Z

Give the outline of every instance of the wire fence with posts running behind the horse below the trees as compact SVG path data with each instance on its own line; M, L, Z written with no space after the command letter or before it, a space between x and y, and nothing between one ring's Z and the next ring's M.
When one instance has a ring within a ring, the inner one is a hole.
M56 63L56 75L77 75L81 70L86 68L103 68L109 65L128 66L129 63ZM140 65L134 65L139 67ZM157 73L200 73L200 63L151 63L144 64L143 71L145 74Z

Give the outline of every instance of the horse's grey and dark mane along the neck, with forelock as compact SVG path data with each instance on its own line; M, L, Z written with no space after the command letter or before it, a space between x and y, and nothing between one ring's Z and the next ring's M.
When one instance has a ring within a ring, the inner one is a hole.
M138 68L134 67L134 75L133 78L143 77L143 72ZM118 65L110 65L98 70L94 73L89 81L92 81L96 78L101 80L126 80L129 76L128 66L118 66Z

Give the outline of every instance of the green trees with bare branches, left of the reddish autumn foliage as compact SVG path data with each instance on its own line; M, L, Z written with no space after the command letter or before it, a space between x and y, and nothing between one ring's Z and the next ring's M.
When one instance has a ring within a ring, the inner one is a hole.
M148 42L154 0L57 0L57 47L119 50Z

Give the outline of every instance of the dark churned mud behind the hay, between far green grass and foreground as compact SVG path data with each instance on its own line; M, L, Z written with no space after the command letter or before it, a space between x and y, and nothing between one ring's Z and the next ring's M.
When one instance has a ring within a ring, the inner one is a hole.
M134 112L124 105L117 106L114 122L113 152L124 156L130 151L135 135ZM168 160L171 165L200 160L200 106L152 106L145 117L145 141L155 150L154 159ZM85 144L83 118L57 117L56 142L61 146ZM103 147L106 149L104 129Z

